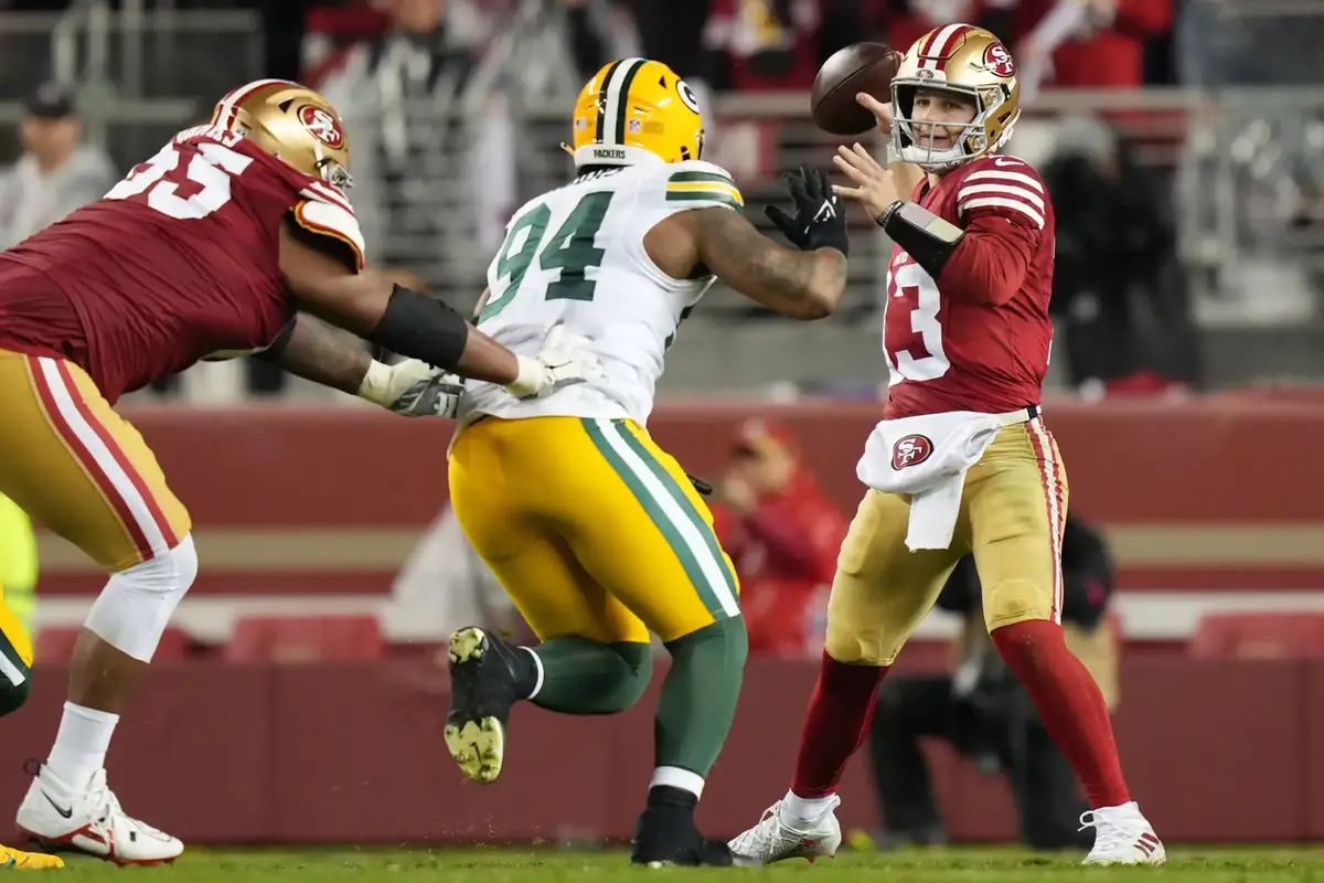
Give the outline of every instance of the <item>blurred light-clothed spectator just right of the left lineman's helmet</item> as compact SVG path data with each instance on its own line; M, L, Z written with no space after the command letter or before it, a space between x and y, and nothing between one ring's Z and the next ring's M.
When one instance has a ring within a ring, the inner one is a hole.
M487 37L481 7L376 5L391 16L389 28L340 50L334 68L323 66L324 79L310 85L344 116L354 146L350 199L369 259L437 283L442 266L486 265L500 241L515 208L512 127L496 95L469 94Z

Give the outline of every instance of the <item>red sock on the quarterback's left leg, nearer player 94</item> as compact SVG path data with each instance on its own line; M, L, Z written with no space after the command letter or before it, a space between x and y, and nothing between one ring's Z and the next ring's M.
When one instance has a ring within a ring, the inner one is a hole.
M849 666L824 651L814 695L809 698L805 728L800 733L800 755L790 790L797 797L828 797L846 761L865 741L874 719L878 682L886 666Z

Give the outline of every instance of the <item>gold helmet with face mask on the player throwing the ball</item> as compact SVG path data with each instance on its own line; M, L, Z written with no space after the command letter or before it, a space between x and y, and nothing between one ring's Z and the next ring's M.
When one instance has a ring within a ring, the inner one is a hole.
M935 148L932 138L920 139L914 119L915 93L939 89L974 102L969 123L939 123L952 132L949 147ZM965 24L933 28L915 41L892 78L892 147L907 163L929 172L949 172L963 163L992 154L1006 144L1021 115L1021 83L1016 62L996 36ZM952 131L957 130L957 131ZM927 140L928 143L922 143Z

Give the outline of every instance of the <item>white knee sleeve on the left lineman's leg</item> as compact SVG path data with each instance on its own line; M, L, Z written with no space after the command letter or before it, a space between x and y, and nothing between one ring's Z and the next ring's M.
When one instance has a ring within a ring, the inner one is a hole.
M192 534L154 559L110 577L83 625L134 659L151 662L175 608L197 577Z

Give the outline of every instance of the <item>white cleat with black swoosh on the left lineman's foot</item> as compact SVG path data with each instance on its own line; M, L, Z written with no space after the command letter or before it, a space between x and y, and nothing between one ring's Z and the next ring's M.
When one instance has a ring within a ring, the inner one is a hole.
M117 864L173 862L184 851L176 838L130 818L97 770L83 793L42 764L19 805L19 833L48 850L85 853Z

